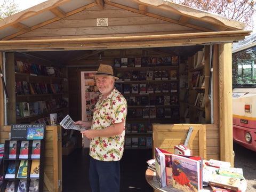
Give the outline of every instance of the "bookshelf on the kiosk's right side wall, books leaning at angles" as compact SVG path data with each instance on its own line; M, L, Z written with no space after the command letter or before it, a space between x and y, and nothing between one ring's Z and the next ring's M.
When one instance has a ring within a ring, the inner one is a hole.
M204 49L180 65L180 117L183 123L205 123Z

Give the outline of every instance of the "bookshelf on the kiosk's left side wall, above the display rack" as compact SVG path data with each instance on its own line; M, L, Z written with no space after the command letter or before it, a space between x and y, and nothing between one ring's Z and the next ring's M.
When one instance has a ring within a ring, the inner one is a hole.
M68 78L65 68L16 57L15 123L50 124L49 114L57 113L57 123L68 112Z

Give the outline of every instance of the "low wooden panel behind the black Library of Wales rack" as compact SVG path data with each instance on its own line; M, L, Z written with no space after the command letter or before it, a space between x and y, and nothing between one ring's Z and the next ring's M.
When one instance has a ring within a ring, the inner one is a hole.
M44 158L44 191L62 191L62 185L58 185L58 180L62 182L62 157L61 157L61 137L58 140L58 133L61 127L46 126L45 133L45 158ZM9 140L11 126L0 126L0 143ZM61 134L59 134L61 135Z

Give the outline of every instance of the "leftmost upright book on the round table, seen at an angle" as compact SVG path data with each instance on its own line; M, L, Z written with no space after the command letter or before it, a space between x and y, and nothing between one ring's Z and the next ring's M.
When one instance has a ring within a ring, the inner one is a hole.
M156 167L156 179L159 187L166 187L166 171L165 171L165 155L155 147L155 167Z

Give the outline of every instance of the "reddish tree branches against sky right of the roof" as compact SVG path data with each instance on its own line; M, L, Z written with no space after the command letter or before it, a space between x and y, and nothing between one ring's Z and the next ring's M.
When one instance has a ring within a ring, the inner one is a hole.
M251 16L256 9L253 0L172 0L172 2L245 22L246 28L251 27Z

